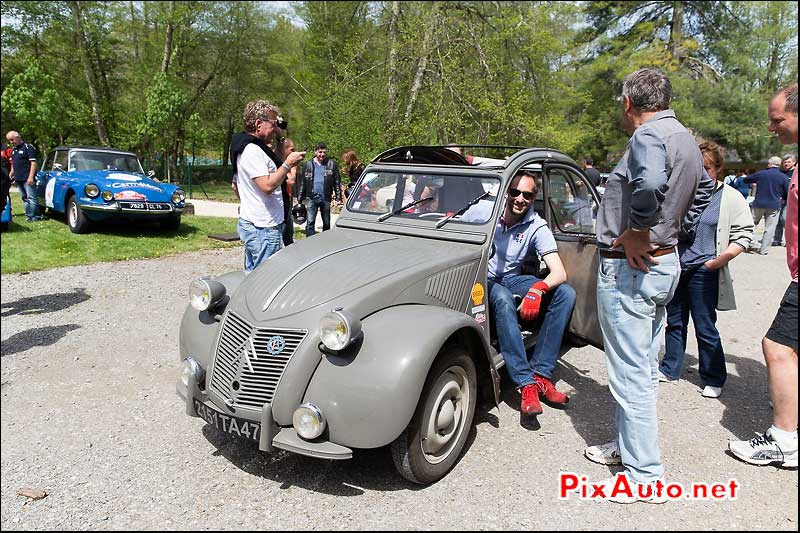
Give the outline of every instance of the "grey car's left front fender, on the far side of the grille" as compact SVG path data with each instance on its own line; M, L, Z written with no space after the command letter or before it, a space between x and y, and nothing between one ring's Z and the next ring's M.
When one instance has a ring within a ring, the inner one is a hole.
M180 361L192 356L208 370L219 335L221 321L217 319L218 315L224 312L224 304L236 292L244 278L243 271L229 272L216 278L216 281L225 285L226 299L223 301L223 307L218 306L212 310L213 312L198 311L191 305L186 306L179 333Z

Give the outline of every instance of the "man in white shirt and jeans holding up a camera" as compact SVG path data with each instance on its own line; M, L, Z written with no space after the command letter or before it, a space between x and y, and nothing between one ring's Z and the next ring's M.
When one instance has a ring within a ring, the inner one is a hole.
M292 152L281 161L267 144L277 130L278 109L264 100L244 109L244 133L231 139L231 162L241 202L239 238L244 243L245 272L280 250L283 233L281 185L305 152Z

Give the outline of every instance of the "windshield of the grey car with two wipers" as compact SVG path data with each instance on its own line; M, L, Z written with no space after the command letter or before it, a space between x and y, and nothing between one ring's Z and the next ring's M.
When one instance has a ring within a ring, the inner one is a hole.
M394 215L397 218L435 222L458 213L471 201L483 196L462 214L453 216L451 221L484 224L492 216L499 187L497 178L368 172L350 195L347 207L356 213L374 215L398 211Z

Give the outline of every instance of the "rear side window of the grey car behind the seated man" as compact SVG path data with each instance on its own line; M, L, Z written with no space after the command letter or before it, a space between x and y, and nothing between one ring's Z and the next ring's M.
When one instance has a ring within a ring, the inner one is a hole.
M597 204L589 192L589 185L576 173L563 168L552 168L548 175L553 229L594 235Z

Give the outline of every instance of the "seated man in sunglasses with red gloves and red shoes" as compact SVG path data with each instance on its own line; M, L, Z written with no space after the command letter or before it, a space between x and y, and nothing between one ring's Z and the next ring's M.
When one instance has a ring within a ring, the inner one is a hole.
M489 305L500 351L512 381L522 394L520 410L539 414L539 396L551 404L569 398L552 383L561 339L575 305L575 290L567 285L567 273L558 255L550 228L532 208L536 178L527 172L514 176L508 189L503 216L494 234L495 253L489 259ZM549 274L544 279L523 275L522 263L530 252L542 258ZM541 319L533 355L528 360L517 323L514 296L522 297L523 320Z

